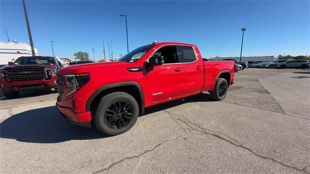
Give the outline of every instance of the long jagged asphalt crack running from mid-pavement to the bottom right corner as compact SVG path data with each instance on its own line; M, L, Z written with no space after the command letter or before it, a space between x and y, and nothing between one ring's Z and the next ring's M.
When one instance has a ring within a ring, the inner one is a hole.
M236 141L235 139L231 138L230 136L228 136L228 135L226 135L226 134L224 134L224 133L217 132L217 131L212 131L212 130L210 130L210 129L200 127L199 125L197 125L197 124L195 124L195 123L193 123L193 122L190 122L190 121L189 121L185 116L183 116L183 115L174 114L174 113L171 113L171 112L166 111L166 110L164 110L164 111L167 112L167 113L171 116L171 118L173 117L173 115L176 115L176 116L179 116L179 117L182 117L182 118L186 119L186 121L183 121L183 120L181 120L181 119L179 119L179 118L174 118L174 119L176 119L176 120L179 120L179 121L185 123L187 126L189 126L190 128L192 128L193 130L196 130L196 131L201 132L202 134L208 134L208 135L215 136L215 137L217 137L218 139L224 140L224 141L229 142L229 143L231 143L231 144L233 144L233 145L235 145L235 146L237 146L237 147L240 147L240 148L243 148L243 149L245 149L245 150L248 150L249 152L251 152L252 154L254 154L254 155L257 156L257 157L260 157L260 158L263 158L263 159L269 159L269 160L271 160L271 161L273 161L273 162L276 162L276 163L278 163L278 164L280 164L280 165L282 165L282 166L284 166L284 167L291 168L291 169L297 170L297 171L299 171L299 172L305 172L305 173L307 173L307 174L310 174L309 172L305 171L305 169L306 169L307 167L304 167L303 169L298 169L298 168L296 168L296 167L294 167L294 166L290 166L290 165L284 164L284 163L282 163L282 162L280 162L280 161L278 161L278 160L276 160L276 159L274 159L274 158L266 157L266 156L263 156L263 155L256 154L254 151L252 151L252 150L249 149L248 147L245 147L245 146L242 145L240 142ZM172 120L174 121L174 119L172 119ZM179 124L179 125L180 125L180 124ZM199 129L197 129L196 127L192 127L192 126L190 126L190 125L194 125L194 126L198 127ZM180 126L181 126L181 125L180 125ZM227 139L225 139L224 137L221 137L221 136L217 135L217 133L229 137L229 138L232 139L234 142L233 142L233 141L230 141L230 140L227 140Z

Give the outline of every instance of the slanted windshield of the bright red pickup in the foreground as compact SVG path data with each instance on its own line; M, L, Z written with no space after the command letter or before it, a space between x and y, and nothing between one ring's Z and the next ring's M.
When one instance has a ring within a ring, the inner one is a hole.
M125 62L129 62L129 63L135 62L138 59L140 59L140 57L142 57L152 47L154 47L153 44L142 46L142 47L138 47L137 49L135 49L133 51L130 51L128 54L124 55L118 61L123 61L123 62L125 61Z

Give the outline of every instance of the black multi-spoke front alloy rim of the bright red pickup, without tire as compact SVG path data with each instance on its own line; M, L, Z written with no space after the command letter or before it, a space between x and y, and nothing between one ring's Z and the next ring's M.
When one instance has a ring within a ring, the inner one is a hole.
M114 102L105 112L105 123L112 129L121 129L132 119L132 106L121 100Z

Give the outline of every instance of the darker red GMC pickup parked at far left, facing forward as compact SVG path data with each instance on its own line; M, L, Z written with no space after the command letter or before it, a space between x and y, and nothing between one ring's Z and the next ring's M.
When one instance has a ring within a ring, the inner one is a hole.
M0 68L1 91L7 98L14 98L19 91L56 88L56 72L60 68L53 57L19 57Z

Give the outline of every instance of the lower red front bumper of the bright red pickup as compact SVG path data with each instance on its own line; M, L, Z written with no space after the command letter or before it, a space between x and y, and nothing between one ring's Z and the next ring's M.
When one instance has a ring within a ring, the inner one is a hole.
M71 124L84 126L84 127L92 127L91 120L91 112L81 112L76 113L71 108L62 107L56 103L58 111L64 116L64 118Z

